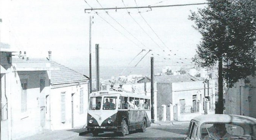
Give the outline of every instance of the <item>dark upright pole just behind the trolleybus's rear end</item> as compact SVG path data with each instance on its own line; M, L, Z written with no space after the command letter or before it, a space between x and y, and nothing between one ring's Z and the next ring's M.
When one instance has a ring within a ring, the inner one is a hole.
M154 123L154 57L151 58L151 123Z

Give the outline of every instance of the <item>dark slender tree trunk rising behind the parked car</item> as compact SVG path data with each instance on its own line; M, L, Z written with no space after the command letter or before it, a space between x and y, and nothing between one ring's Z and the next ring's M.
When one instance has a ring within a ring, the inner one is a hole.
M223 78L222 78L222 57L219 56L219 70L218 70L218 102L215 113L223 114Z

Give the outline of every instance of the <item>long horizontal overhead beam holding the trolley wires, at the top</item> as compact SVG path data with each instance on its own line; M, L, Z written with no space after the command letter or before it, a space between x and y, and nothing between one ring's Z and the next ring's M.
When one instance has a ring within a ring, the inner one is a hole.
M179 4L179 5L158 5L158 6L137 6L137 7L114 7L114 8L86 8L86 10L111 10L111 9L134 9L134 8L159 8L159 7L172 7L172 6L187 6L187 5L204 5L208 3L191 3L191 4Z

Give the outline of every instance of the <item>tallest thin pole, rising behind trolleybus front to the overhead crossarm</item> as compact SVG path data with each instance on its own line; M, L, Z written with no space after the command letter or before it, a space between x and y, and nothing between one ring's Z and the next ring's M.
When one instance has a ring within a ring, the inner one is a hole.
M90 31L89 31L89 94L88 94L88 101L89 95L91 94L91 16L90 16Z

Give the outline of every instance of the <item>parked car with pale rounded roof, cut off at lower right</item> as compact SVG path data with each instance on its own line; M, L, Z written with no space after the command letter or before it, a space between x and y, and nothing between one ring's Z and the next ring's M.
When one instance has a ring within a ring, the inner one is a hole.
M191 119L186 140L256 140L256 118L202 115Z

